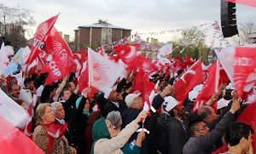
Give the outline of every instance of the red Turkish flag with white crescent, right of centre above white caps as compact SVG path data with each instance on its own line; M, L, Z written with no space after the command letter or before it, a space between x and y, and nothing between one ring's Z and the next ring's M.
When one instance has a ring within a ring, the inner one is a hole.
M201 60L198 60L193 66L180 77L173 87L176 92L176 100L183 103L189 91L196 85L205 81L204 72L201 68Z

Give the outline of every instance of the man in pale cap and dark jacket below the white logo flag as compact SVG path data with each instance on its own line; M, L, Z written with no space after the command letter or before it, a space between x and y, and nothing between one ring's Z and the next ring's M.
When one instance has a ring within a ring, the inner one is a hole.
M116 86L106 90L104 98L108 101L102 105L102 117L107 117L110 111L119 111L122 115L127 110L123 96L116 92Z

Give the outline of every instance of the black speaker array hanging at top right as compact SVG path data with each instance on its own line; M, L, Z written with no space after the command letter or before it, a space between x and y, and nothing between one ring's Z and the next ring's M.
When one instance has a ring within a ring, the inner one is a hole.
M224 37L233 37L238 34L236 26L236 3L220 0L221 28Z

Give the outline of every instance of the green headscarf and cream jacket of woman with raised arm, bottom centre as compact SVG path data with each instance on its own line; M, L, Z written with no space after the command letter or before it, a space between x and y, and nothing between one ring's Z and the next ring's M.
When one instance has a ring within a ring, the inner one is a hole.
M121 148L130 139L139 125L132 121L115 137L111 138L108 133L108 128L105 122L106 118L101 118L94 123L92 127L93 145L90 151L91 154L122 154L126 153Z

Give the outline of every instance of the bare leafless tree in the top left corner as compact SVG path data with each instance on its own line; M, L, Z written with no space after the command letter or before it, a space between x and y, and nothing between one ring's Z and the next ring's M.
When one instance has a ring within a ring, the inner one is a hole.
M32 11L17 7L7 7L0 3L0 33L15 49L26 45L25 32L33 26Z

